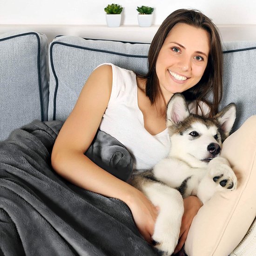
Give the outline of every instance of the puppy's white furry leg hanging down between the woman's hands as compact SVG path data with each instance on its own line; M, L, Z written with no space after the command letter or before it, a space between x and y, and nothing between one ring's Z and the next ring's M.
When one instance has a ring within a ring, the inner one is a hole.
M155 247L163 251L163 255L171 255L178 243L184 212L182 195L176 189L159 182L145 184L143 193L159 207L152 236L156 242Z

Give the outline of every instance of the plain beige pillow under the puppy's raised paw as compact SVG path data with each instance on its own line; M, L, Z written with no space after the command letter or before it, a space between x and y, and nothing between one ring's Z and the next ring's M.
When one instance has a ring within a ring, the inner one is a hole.
M216 193L195 216L185 251L189 256L228 256L256 216L256 115L223 143L238 178L235 191Z

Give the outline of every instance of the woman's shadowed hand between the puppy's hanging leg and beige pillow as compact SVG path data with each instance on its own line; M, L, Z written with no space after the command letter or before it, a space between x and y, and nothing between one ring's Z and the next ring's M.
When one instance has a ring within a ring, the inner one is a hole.
M202 202L196 196L189 196L183 200L184 214L182 217L182 226L179 236L179 243L177 244L174 254L182 249L188 233L190 225L197 214L198 210L202 207Z

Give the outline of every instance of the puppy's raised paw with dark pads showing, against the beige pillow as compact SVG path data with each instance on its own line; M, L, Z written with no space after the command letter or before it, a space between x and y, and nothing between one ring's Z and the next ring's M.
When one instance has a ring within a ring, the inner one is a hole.
M230 189L231 191L236 189L237 178L226 159L216 158L216 161L209 164L209 171L213 181L220 184L222 188Z

